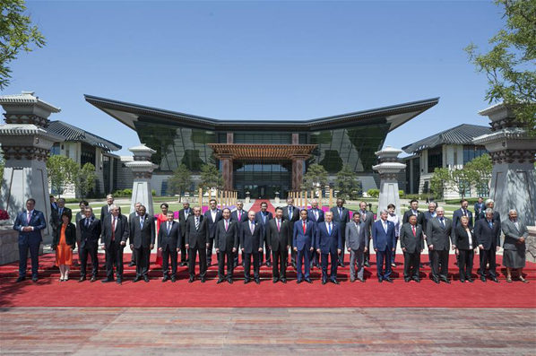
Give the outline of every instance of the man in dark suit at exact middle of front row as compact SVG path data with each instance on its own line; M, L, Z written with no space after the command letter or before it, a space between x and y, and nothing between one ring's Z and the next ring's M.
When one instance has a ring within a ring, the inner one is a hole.
M274 283L287 282L287 259L290 245L292 245L289 224L290 221L283 220L283 208L280 206L275 208L275 218L267 224L266 239L268 239L268 248L272 251L272 282Z

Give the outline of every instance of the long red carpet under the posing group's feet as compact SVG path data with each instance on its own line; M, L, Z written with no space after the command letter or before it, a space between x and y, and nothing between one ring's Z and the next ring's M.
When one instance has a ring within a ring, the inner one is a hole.
M100 255L102 267L104 256ZM427 256L423 255L423 259ZM152 255L152 264L155 255ZM373 257L374 258L374 257ZM125 261L130 256L125 255ZM215 260L215 256L214 256ZM151 269L151 282L133 283L134 269L125 267L125 282L103 284L101 282L76 282L79 271L73 271L71 280L58 282L59 270L53 267L54 256L40 258L40 279L14 283L17 265L0 266L1 307L259 307L259 308L536 308L536 264L527 264L524 272L529 284L514 281L506 283L501 271L501 282L480 282L474 274L474 283L453 281L439 285L428 280L428 266L421 277L423 281L393 284L379 283L376 268L367 268L366 283L350 283L349 269L339 269L341 285L319 281L320 271L312 273L313 284L296 284L296 272L289 267L288 283L271 281L271 269L263 266L260 285L243 284L242 268L235 270L234 284L216 284L217 267L212 265L206 283L187 282L186 267L179 267L176 283L161 282L161 269ZM500 262L500 257L499 257ZM151 265L153 267L153 265ZM393 277L399 278L402 265L394 269ZM104 269L99 277L104 276ZM454 259L450 260L449 272L457 279ZM475 272L475 271L473 271Z

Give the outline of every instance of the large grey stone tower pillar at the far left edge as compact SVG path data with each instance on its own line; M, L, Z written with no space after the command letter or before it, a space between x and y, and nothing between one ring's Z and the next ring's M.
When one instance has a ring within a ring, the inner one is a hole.
M14 222L17 213L26 209L26 200L35 199L35 209L47 219L43 233L50 235L47 160L50 147L64 139L49 133L47 126L50 114L60 109L40 100L33 91L0 96L0 105L5 110L5 125L0 126L5 159L0 207L7 210L10 221Z

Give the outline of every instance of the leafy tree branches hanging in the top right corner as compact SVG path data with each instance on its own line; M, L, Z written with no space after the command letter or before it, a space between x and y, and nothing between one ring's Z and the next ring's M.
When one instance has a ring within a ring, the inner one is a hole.
M477 72L488 76L486 100L503 101L515 117L536 135L536 0L496 0L504 8L506 28L489 39L487 54L477 54L477 46L465 51Z

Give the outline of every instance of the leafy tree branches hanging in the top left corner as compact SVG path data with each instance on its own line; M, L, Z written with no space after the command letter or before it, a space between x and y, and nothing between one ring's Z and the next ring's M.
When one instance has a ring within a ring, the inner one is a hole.
M31 52L32 45L45 46L45 37L37 26L31 25L29 15L24 15L26 5L23 0L2 0L0 2L0 91L4 90L11 78L8 66L20 51Z

